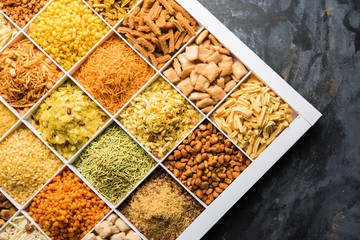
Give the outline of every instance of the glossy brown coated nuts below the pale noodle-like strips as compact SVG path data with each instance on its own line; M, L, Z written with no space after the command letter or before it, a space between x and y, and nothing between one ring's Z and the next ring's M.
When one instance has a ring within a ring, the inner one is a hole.
M211 123L203 123L169 155L165 166L209 205L250 163Z

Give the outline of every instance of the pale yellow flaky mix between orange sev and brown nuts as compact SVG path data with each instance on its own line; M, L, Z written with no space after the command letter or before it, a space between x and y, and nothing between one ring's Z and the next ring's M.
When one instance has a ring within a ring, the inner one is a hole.
M134 98L120 122L156 157L163 157L198 123L200 113L159 78Z

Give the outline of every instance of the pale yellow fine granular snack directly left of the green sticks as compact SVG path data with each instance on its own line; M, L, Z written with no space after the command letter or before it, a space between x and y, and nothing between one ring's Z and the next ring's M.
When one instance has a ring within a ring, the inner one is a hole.
M0 156L0 187L20 204L25 204L63 165L25 126L0 142Z

